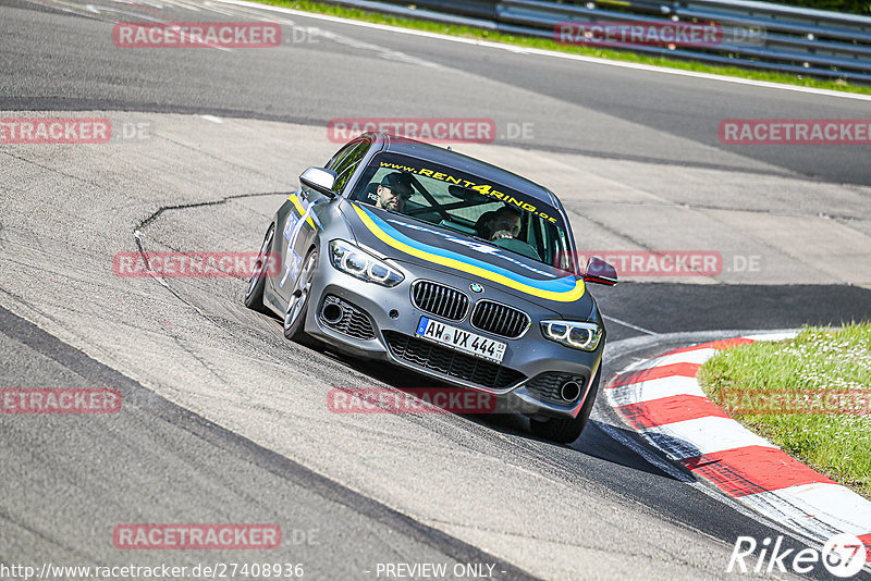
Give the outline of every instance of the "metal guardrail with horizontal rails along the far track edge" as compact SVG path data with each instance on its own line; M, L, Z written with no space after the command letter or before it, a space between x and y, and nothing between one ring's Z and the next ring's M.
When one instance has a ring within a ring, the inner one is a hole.
M328 0L400 16L556 38L560 23L715 23L715 46L628 50L714 64L871 84L871 17L752 0ZM590 44L590 46L597 46ZM622 47L627 48L627 47Z

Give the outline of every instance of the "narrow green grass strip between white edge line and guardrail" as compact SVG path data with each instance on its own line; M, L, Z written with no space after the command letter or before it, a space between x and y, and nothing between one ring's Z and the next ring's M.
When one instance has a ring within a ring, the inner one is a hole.
M844 92L859 92L863 95L871 95L871 87L847 83L846 81L842 79L820 81L817 78L811 78L806 76L787 75L784 73L773 73L765 71L752 71L752 70L741 69L738 66L719 66L719 65L704 64L701 62L683 61L678 59L649 57L643 54L637 54L629 51L565 46L565 45L560 45L554 40L548 38L514 36L503 33L496 33L493 30L487 30L484 28L455 26L451 24L441 24L424 20L400 18L388 14L367 12L364 10L339 7L335 4L327 4L323 2L312 2L309 0L256 0L256 1L263 4L291 8L306 12L316 12L319 14L340 16L343 18L352 18L352 20L371 22L376 24L388 24L391 26L401 26L404 28L413 28L416 30L426 30L430 33L439 33L450 36L458 36L463 38L471 38L476 40L489 40L493 42L517 45L520 47L567 52L571 54L582 54L585 57L598 57L615 61L626 61L640 64L651 64L657 66L667 66L670 69L679 69L683 71L695 71L699 73L711 73L716 75L750 78L755 81L766 81L770 83L798 85L801 87L813 87L821 89L839 90Z

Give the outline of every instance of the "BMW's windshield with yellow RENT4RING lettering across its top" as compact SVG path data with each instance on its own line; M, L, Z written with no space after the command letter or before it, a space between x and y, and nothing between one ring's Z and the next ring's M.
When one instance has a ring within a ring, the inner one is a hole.
M379 206L381 185L403 197L398 207L381 205L387 209L575 272L563 218L541 200L480 176L395 153L372 158L351 199Z

